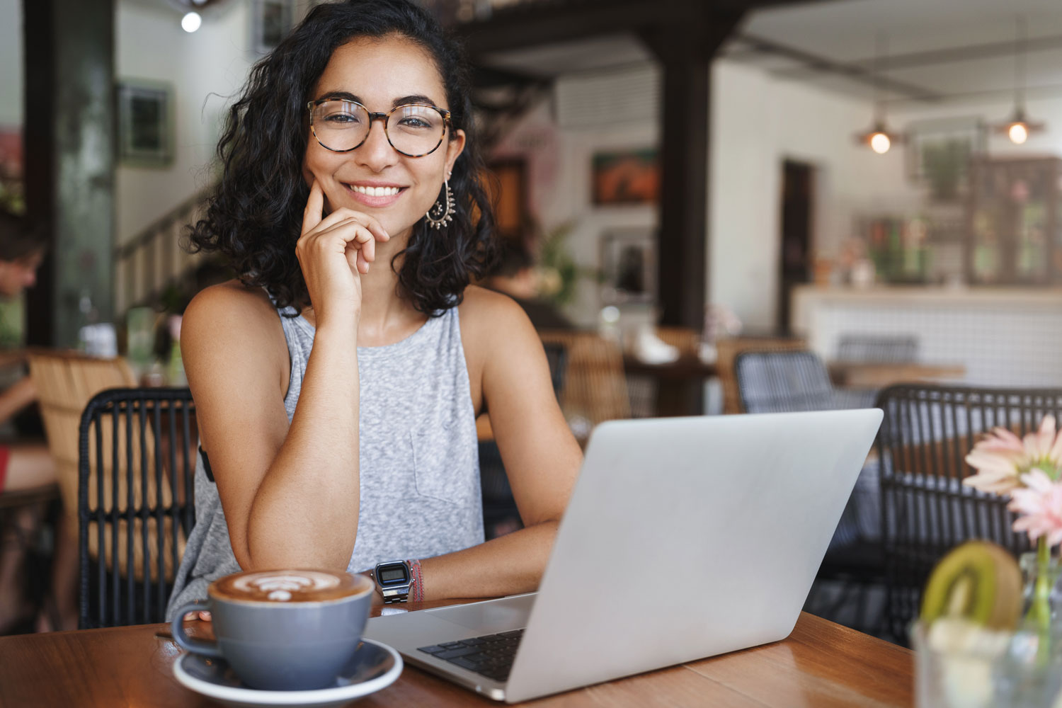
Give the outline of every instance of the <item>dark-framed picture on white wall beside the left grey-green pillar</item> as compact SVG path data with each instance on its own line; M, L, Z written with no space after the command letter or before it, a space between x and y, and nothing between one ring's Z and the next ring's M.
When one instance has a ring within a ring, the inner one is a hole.
M157 81L118 83L118 157L133 167L173 161L173 86Z

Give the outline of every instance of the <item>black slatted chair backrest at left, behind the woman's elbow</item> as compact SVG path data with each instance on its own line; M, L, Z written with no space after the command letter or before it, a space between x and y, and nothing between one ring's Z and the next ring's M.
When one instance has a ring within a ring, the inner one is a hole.
M161 622L195 522L188 388L112 388L78 432L81 627Z

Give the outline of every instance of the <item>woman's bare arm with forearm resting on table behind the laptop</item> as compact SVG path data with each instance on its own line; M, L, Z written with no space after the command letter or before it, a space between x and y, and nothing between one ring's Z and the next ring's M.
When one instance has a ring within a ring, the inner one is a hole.
M582 451L553 394L542 341L524 310L479 289L469 289L466 301L476 309L475 316L462 316L466 357L482 363L483 401L525 528L423 559L427 600L537 588L582 464ZM477 367L469 364L470 372Z

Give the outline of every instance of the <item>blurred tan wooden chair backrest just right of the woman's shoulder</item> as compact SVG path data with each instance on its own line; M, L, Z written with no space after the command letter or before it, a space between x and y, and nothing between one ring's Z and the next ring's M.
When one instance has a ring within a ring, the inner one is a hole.
M597 332L541 331L544 345L555 343L567 351L561 408L565 415L580 415L592 425L631 417L619 345Z

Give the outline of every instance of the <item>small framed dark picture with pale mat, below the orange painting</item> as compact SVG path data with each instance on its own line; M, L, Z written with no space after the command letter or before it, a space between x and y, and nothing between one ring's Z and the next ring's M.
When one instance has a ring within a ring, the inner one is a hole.
M601 299L609 305L656 299L656 235L617 229L601 237Z

